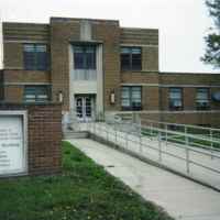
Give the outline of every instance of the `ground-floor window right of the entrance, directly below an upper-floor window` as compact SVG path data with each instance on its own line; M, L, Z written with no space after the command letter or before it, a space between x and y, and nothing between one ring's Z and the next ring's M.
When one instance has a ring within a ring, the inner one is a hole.
M141 87L122 87L121 106L122 110L141 110L142 89Z

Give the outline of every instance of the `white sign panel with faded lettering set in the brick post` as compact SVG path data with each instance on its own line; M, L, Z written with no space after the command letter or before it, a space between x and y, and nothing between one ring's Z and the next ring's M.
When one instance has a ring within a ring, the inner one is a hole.
M25 161L23 116L0 112L0 175L25 172Z

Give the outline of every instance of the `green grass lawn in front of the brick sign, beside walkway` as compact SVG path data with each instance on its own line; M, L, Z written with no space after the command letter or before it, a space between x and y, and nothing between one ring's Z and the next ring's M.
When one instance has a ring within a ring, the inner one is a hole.
M170 220L69 143L63 173L0 179L0 220Z

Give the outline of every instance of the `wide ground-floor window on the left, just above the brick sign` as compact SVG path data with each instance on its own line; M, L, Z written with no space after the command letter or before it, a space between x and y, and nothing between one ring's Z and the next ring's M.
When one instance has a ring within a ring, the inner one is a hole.
M47 86L25 86L25 102L46 102L50 100L50 87Z

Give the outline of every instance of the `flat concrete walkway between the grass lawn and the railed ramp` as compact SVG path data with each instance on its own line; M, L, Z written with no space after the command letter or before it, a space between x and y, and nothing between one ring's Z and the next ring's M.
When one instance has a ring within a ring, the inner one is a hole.
M146 200L162 206L175 219L220 219L220 193L92 140L68 141Z

